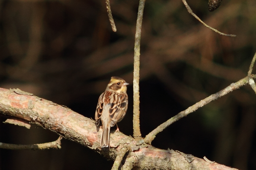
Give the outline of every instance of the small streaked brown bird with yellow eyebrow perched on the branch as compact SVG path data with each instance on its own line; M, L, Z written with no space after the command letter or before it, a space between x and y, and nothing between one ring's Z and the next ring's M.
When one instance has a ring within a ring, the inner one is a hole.
M95 120L97 128L102 123L102 134L100 138L100 147L109 146L110 127L120 122L127 111L128 96L126 94L127 85L123 79L119 77L111 77L111 80L100 97L95 112ZM116 124L116 131L119 128Z

